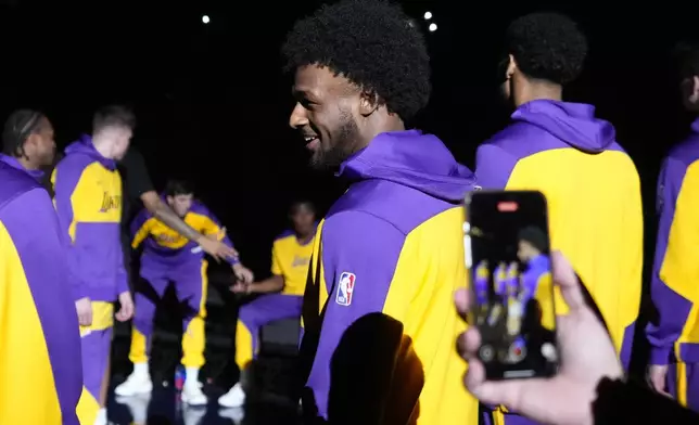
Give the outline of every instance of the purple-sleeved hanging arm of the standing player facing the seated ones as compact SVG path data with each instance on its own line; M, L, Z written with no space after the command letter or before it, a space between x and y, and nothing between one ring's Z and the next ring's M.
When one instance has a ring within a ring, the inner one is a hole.
M53 204L59 218L61 236L65 237L68 270L73 298L77 301L89 298L88 288L80 270L80 255L85 252L80 237L81 217L74 202L79 201L82 171L85 166L73 160L62 163L53 170L51 183L53 184ZM74 196L74 194L76 196Z

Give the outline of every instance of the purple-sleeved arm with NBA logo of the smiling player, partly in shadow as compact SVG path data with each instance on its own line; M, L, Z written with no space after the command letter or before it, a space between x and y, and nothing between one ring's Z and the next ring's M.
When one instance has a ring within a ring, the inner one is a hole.
M419 361L407 355L414 351L403 324L383 312L404 242L395 227L359 211L335 214L323 227L322 269L330 293L318 352L330 356L329 364L320 365L330 371L334 389L328 409L346 423L391 422L385 407L393 378L418 378L405 373L410 366L422 374Z

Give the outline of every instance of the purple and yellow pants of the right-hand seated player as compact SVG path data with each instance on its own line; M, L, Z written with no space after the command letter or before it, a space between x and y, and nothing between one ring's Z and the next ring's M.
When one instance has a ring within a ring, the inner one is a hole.
M257 356L259 329L269 322L301 318L303 297L268 294L242 306L236 329L236 364L243 371Z

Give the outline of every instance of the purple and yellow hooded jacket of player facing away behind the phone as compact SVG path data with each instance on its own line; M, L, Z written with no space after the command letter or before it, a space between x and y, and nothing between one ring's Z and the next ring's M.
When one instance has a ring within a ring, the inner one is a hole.
M551 247L560 249L599 307L628 366L640 307L643 207L634 162L608 121L581 103L536 100L478 149L479 184L538 190L549 209ZM557 295L557 313L567 306Z

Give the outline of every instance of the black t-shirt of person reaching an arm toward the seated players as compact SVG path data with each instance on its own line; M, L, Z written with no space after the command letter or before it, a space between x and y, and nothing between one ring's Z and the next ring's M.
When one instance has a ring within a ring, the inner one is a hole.
M136 147L129 147L117 168L123 182L122 230L128 246L129 227L134 217L143 208L141 195L155 189L145 168L145 160Z

